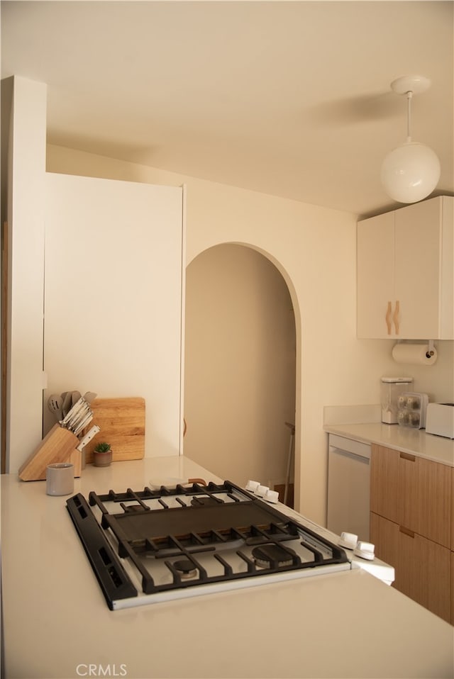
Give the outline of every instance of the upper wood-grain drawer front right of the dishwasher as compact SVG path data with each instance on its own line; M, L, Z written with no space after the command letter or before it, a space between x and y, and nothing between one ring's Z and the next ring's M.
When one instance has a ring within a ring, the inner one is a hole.
M447 465L372 446L371 511L449 549L454 544L453 484Z

